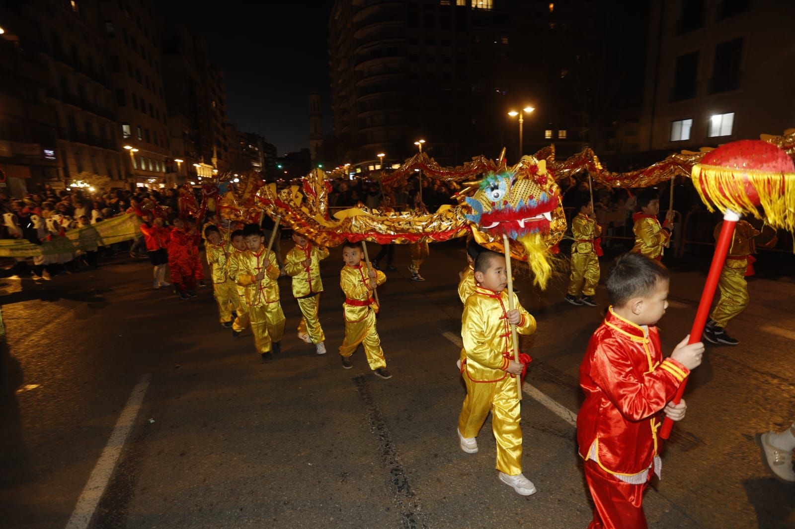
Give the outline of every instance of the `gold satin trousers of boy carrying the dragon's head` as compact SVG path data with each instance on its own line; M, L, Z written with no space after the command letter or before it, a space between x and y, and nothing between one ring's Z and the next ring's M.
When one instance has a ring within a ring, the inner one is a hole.
M491 411L491 430L497 440L497 469L509 476L522 473L522 420L516 379L474 382L463 373L467 398L463 400L458 429L464 437L477 437Z

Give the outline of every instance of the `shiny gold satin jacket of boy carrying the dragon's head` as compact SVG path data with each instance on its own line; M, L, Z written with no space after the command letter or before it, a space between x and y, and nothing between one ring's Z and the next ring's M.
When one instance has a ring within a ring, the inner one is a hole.
M467 352L466 373L475 382L498 382L508 376L506 369L514 359L508 312L508 291L499 294L476 287L463 304L461 338ZM533 334L536 319L519 304L514 293L514 307L522 314L516 326L519 334ZM506 357L506 354L510 357Z

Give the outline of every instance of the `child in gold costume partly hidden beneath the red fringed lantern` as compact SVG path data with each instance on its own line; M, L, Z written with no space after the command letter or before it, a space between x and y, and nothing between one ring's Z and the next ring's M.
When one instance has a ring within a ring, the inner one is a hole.
M715 226L715 241L718 240L720 230L723 228L723 221ZM751 254L756 253L756 241L754 237L760 234L759 230L754 229L747 221L741 220L735 226L735 238L731 241L726 262L723 263L723 270L720 272L718 288L720 289L720 299L715 303L712 314L709 315L707 325L704 326L704 339L712 343L722 343L727 346L736 346L739 340L731 338L726 334L723 327L745 310L748 306L750 297L748 296L748 284L746 276L753 272L748 272L751 263L756 261ZM774 246L777 242L776 237L767 241L764 246Z

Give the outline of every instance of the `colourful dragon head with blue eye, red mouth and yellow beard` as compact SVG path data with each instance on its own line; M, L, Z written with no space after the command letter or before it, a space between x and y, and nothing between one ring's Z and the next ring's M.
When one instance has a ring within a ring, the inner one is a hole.
M478 191L464 200L472 210L467 220L477 225L475 239L486 246L497 245L502 235L516 241L521 248L511 253L528 262L535 283L545 288L553 253L566 230L560 188L545 160L523 156L511 168L488 172ZM491 237L479 237L478 232Z

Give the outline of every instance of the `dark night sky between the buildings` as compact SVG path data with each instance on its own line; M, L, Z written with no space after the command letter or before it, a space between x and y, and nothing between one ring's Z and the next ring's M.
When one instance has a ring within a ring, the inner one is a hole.
M309 146L307 96L328 110L328 14L333 0L312 2L157 2L163 14L204 33L226 73L229 121L262 134L279 155ZM188 11L189 10L189 11Z

